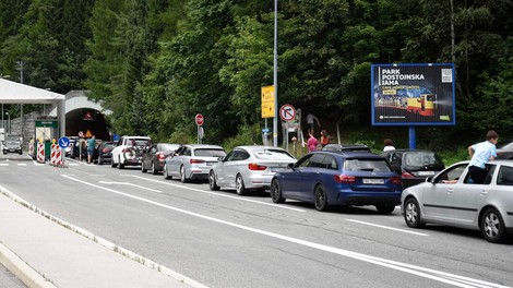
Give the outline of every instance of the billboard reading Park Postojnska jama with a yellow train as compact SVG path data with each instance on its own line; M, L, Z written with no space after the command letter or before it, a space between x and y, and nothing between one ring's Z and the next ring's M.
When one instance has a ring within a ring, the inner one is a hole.
M372 64L372 124L456 124L454 73L453 63Z

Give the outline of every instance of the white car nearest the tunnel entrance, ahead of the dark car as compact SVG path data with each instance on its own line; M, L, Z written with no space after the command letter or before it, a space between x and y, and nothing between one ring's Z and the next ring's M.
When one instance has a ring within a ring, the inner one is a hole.
M139 166L142 153L151 146L152 139L146 136L122 136L112 149L111 167L123 169L124 166Z

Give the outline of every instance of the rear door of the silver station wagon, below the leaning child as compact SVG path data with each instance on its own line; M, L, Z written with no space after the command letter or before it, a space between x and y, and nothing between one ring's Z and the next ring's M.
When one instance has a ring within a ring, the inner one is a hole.
M473 224L478 220L479 208L487 200L491 189L491 180L496 171L496 165L487 165L488 175L484 183L472 183L468 176L454 191L454 221L460 224Z

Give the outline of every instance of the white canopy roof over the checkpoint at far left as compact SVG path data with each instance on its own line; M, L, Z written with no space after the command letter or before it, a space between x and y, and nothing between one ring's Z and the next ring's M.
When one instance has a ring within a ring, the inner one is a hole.
M55 104L65 95L0 79L0 104Z

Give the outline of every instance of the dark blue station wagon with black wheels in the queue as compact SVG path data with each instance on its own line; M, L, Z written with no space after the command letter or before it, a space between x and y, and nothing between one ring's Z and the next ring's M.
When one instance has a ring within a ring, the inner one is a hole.
M369 152L312 152L271 182L274 203L286 199L310 202L318 211L333 205L373 205L390 214L401 204L398 176L382 156Z

